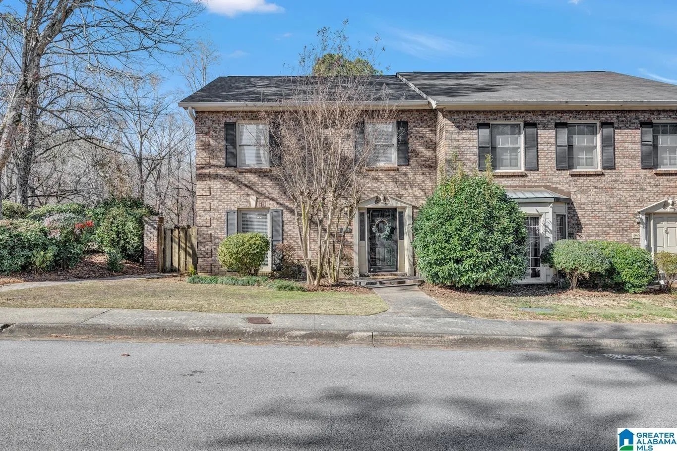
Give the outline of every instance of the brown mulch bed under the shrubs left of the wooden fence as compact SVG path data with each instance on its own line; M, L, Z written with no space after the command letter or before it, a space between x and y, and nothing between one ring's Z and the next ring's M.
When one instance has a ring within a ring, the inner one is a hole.
M52 272L14 272L9 275L0 275L0 285L22 282L67 281L69 279L102 279L122 275L141 275L148 271L144 265L123 260L125 269L122 272L113 272L106 268L106 255L101 253L87 254L83 261L74 268L60 269Z

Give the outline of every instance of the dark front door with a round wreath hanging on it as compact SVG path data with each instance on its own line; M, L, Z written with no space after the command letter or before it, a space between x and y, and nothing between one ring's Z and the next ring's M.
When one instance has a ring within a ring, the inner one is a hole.
M397 208L367 210L369 272L397 272Z

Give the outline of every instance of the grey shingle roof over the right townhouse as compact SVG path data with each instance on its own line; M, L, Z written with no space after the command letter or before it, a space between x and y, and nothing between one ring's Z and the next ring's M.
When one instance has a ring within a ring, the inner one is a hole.
M399 75L439 103L677 103L677 86L617 72L401 72Z

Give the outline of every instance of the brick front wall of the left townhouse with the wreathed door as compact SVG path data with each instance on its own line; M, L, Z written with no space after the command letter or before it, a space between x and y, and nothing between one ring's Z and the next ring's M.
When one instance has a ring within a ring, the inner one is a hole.
M259 118L257 112L197 112L198 272L223 272L217 247L225 237L225 212L249 208L253 197L256 197L257 208L282 208L283 239L300 249L290 201L274 176L261 170L225 167L225 122ZM436 113L402 110L397 112L395 120L409 123L410 164L398 166L396 170L370 171L366 198L388 195L419 206L435 187ZM284 156L282 158L284 161Z

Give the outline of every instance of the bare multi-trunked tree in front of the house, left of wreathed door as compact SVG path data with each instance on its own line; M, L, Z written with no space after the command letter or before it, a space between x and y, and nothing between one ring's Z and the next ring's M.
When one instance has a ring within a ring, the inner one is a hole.
M324 28L319 34L320 45L301 55L301 68L312 68L327 51L341 55L339 62L355 60L345 30ZM374 136L365 135L364 122L392 122L397 107L379 76L326 73L290 77L290 97L261 113L274 141L270 158L281 159L274 174L292 201L312 285L324 277L339 280L345 237L370 180L366 168L383 151Z

